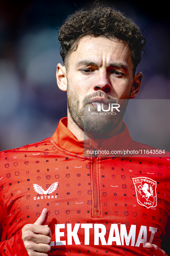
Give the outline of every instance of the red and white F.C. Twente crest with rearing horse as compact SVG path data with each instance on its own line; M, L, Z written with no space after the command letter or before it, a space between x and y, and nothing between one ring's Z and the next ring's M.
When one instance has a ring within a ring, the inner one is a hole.
M146 208L156 207L156 181L147 177L132 178L137 202Z

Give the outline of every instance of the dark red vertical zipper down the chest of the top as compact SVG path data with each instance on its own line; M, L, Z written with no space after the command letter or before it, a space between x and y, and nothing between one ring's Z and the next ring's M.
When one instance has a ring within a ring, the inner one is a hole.
M94 217L100 217L100 199L99 199L99 180L98 180L98 171L97 171L97 157L93 157L93 196L94 196Z

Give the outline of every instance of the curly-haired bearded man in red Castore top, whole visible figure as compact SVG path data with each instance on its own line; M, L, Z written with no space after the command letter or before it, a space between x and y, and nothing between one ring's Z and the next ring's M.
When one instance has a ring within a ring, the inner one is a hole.
M58 40L68 118L51 138L1 153L1 255L167 255L159 247L169 236L168 162L136 155L153 148L123 123L146 39L130 18L97 4L68 16Z

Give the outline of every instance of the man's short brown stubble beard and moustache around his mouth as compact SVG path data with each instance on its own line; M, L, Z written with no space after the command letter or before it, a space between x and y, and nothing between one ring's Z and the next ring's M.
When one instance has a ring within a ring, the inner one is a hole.
M125 114L130 94L125 96L125 99L121 100L120 112L115 111L116 115L91 115L92 112L97 113L97 108L93 111L88 111L88 100L96 97L104 97L110 103L116 103L116 100L106 94L104 91L98 90L93 94L84 97L84 100L80 102L79 96L75 90L71 89L70 84L67 86L67 104L70 117L73 122L79 126L83 132L91 134L94 137L106 135L114 130L119 122L123 119ZM108 106L106 106L108 109ZM102 112L102 111L101 111ZM110 111L109 111L110 112Z

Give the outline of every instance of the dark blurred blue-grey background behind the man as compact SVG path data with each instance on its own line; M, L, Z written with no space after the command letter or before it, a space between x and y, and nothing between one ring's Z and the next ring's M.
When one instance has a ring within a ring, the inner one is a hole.
M146 56L137 67L143 73L140 93L125 116L131 137L170 151L168 6L130 0L100 3L125 12L147 39ZM56 66L62 63L57 27L71 12L92 4L0 0L0 150L50 137L67 115L66 93L56 83Z

